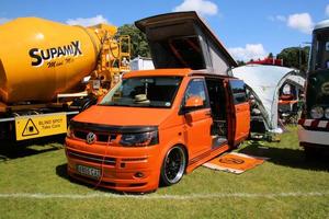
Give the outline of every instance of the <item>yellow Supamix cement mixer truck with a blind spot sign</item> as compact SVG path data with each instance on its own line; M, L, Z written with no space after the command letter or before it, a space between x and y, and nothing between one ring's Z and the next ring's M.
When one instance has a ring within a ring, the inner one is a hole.
M0 139L66 132L70 116L95 104L113 78L129 70L129 37L115 34L112 25L38 18L0 25Z

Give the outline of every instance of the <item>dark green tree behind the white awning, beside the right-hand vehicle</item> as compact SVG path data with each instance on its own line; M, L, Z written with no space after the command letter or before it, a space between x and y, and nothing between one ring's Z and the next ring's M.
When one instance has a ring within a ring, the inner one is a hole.
M307 70L307 62L309 56L309 46L305 47L288 47L282 49L276 58L283 59L283 66L288 68L296 68L303 72Z

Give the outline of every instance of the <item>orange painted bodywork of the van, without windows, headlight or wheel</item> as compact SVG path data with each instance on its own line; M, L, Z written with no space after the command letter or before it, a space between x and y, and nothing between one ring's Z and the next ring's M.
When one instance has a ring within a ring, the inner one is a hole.
M182 77L171 107L97 105L77 115L72 123L79 123L82 126L75 128L73 131L76 132L66 139L66 154L70 176L116 191L149 192L158 188L163 159L167 151L173 146L180 145L186 151L186 173L230 148L228 141L224 141L220 147L213 147L211 134L213 118L209 107L206 106L189 113L181 112L189 82L195 78L203 80L203 76L194 77L191 74L190 69L166 69L132 72L125 74L124 78L149 76ZM247 106L237 106L237 108L239 107ZM246 127L249 129L249 124L243 128L249 118L248 116L245 113L237 116L237 129L235 131L237 138L245 137ZM240 118L243 118L242 122ZM86 135L91 131L91 127L95 127L92 131L98 136L109 135L104 131L105 129L102 129L102 126L114 127L115 130L127 127L157 127L158 142L145 147L123 147L121 145L123 134L117 131L113 138L111 137L112 139L109 137L107 140L98 139L95 142L87 143ZM98 127L101 127L101 129L97 130ZM79 131L84 131L82 137L78 135ZM86 177L78 173L77 165L101 170L102 177L98 180Z

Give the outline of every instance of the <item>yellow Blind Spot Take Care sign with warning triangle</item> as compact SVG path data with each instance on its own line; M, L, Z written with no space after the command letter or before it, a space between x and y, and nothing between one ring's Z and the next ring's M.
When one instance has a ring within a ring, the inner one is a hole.
M66 130L65 113L15 117L16 140L65 134Z

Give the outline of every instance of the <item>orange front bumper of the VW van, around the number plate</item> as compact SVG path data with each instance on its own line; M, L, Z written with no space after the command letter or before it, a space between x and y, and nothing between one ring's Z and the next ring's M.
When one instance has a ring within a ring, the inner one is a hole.
M124 148L87 145L66 139L68 174L88 184L124 192L149 192L158 188L161 162L159 146ZM105 158L104 158L105 157ZM77 171L77 165L101 170L94 178Z

